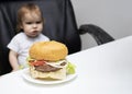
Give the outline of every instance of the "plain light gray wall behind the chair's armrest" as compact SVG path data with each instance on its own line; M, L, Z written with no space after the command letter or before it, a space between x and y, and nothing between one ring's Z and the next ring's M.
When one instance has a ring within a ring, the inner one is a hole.
M72 0L78 27L96 24L116 39L132 35L132 0ZM82 49L97 46L89 35L82 35Z

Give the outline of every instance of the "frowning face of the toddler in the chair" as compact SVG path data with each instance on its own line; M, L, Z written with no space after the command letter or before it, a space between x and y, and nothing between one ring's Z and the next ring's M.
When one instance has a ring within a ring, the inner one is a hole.
M25 13L21 28L30 37L36 37L43 30L43 21L35 13Z

